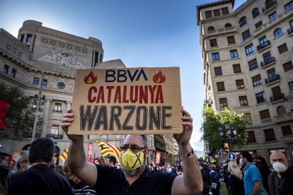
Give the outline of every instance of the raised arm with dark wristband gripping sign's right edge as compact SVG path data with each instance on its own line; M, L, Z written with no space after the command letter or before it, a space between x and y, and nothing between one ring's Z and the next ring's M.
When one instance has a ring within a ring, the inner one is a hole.
M182 153L184 174L174 179L171 194L199 194L203 189L202 175L189 142L193 133L193 119L184 109L182 112L183 133L173 134L173 137L178 142L180 153Z

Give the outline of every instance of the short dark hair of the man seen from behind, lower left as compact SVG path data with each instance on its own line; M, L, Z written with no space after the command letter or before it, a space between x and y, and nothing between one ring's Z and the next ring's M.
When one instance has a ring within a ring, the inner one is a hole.
M30 144L30 152L28 160L30 164L34 162L46 162L48 165L52 160L54 154L54 142L50 138L36 138Z

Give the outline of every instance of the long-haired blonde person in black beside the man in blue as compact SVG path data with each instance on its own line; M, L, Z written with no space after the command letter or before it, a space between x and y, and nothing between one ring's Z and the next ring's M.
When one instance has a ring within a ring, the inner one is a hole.
M229 162L228 170L230 172L228 177L228 184L231 195L244 195L245 191L241 169L236 164L236 162Z

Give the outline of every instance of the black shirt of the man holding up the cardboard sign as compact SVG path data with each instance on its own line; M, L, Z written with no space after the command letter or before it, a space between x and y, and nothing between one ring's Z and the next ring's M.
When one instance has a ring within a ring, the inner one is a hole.
M128 184L121 169L96 165L98 178L93 187L97 194L171 194L173 181L177 175L144 169L140 177Z

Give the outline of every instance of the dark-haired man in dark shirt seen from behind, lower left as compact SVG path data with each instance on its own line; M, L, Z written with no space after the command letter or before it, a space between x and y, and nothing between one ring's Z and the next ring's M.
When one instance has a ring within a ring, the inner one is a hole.
M54 142L36 138L30 144L30 169L8 177L9 194L74 194L68 180L49 167L54 159Z

